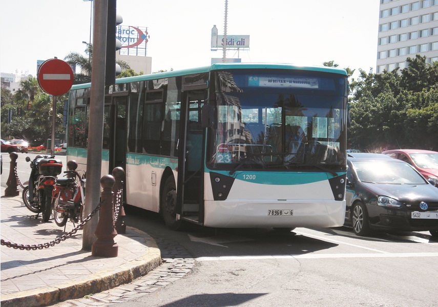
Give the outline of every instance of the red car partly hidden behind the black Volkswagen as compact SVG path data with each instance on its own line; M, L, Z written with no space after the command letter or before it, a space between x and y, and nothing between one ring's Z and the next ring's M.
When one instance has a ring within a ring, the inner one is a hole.
M435 187L438 187L438 152L421 149L394 149L382 153L408 162L427 180L434 181Z

